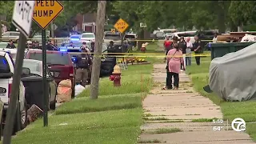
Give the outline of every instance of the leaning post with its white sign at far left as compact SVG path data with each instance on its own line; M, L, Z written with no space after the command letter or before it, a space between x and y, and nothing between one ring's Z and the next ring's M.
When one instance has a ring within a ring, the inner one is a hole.
M19 85L22 75L22 65L26 49L26 38L30 35L34 1L15 1L13 21L14 26L21 31L19 35L18 50L14 66L12 89L10 91L10 103L7 110L6 126L3 134L3 144L10 144L11 134L14 128L14 118L17 111ZM19 113L19 111L18 111Z

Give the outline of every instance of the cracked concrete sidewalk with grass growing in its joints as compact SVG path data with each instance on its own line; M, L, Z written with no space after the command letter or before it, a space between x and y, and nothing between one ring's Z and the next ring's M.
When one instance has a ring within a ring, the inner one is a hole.
M221 109L194 91L185 72L180 74L179 90L161 90L166 82L165 68L166 64L154 65L153 77L158 86L154 86L143 102L146 122L141 126L139 143L254 143L248 134L235 132L227 122L217 125L202 120L222 119ZM219 126L220 130L214 130L214 126Z

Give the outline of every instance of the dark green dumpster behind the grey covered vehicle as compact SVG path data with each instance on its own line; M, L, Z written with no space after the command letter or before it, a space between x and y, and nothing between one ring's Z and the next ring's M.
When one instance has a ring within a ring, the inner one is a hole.
M211 51L211 60L222 57L225 54L242 50L246 46L250 46L254 42L232 42L232 43L208 43L207 46Z

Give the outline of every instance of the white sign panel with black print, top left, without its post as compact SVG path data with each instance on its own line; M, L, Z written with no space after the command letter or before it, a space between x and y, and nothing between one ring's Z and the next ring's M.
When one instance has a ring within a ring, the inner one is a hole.
M12 23L26 36L30 35L34 1L15 1Z

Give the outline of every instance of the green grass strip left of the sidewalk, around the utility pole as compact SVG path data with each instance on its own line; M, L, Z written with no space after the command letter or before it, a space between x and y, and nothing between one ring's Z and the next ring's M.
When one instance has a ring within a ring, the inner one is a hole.
M109 78L102 78L97 100L90 99L90 90L85 90L78 98L59 106L50 115L48 127L43 127L40 118L18 132L12 143L136 143L143 122L142 99L153 85L152 70L152 64L128 66L128 70L122 70L120 87L114 87Z

